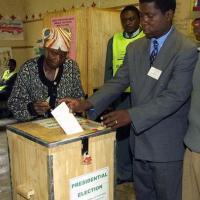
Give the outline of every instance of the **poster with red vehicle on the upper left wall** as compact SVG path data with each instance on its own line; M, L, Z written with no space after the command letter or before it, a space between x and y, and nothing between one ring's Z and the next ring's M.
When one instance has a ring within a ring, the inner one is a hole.
M0 40L23 40L23 22L20 19L0 19Z

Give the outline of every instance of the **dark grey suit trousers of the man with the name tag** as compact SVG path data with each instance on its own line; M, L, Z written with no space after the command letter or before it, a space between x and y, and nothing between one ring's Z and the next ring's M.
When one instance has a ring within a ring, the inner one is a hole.
M133 158L136 199L181 200L182 169L183 161L159 163Z

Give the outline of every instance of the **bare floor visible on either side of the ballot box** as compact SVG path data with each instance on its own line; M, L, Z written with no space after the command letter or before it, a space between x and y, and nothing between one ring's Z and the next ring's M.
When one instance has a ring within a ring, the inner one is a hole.
M1 128L1 123L0 123ZM0 130L0 200L11 200L10 167L6 131ZM117 185L115 200L135 200L132 183ZM40 199L39 199L40 200Z

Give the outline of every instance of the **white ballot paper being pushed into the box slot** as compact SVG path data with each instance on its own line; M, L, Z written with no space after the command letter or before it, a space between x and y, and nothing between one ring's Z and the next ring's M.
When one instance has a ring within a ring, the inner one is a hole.
M65 131L66 134L75 134L83 131L77 119L72 113L69 112L69 108L66 103L61 103L54 110L51 111L58 124Z

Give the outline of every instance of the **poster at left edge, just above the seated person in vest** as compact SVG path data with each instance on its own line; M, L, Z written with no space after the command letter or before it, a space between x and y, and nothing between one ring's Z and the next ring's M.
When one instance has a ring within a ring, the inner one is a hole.
M0 48L0 74L7 69L8 60L12 58L11 47L1 47Z

